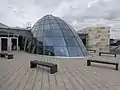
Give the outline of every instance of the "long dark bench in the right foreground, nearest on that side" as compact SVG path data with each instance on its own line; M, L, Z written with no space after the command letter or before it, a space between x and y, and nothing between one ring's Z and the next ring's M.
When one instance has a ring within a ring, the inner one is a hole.
M91 65L91 62L115 65L115 66L116 66L116 67L115 67L115 70L118 70L118 65L119 65L119 63L117 63L117 62L108 62L108 61L100 61L100 60L87 60L87 66L90 66L90 65Z

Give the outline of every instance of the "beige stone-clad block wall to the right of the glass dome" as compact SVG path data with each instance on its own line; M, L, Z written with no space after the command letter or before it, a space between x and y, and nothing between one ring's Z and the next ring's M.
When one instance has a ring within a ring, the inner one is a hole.
M78 32L79 33L79 32ZM96 26L84 28L87 34L86 47L99 51L109 52L110 45L110 27ZM84 34L83 33L83 34Z

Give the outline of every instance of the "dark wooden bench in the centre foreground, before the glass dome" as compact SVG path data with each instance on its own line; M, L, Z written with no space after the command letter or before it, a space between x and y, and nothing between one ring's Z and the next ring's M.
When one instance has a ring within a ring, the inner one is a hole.
M44 61L30 61L30 68L35 68L37 65L45 66L50 68L50 74L56 73L57 72L57 64L49 63L49 62L44 62Z

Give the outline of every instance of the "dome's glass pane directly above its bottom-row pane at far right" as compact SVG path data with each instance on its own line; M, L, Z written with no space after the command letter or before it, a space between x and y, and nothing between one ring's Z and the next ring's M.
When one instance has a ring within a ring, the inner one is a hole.
M79 43L75 37L64 37L67 46L79 46Z

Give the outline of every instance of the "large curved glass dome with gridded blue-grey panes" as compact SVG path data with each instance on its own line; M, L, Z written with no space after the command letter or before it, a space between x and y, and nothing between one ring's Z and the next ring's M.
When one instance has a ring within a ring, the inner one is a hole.
M76 31L58 17L46 15L32 27L32 52L51 56L85 56L86 49ZM36 41L37 40L37 41Z

